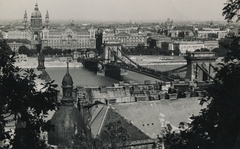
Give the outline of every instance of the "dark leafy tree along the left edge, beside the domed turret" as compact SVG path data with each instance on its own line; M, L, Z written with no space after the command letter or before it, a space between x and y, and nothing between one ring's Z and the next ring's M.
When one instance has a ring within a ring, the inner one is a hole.
M46 148L40 135L53 128L45 117L56 107L57 85L52 81L37 89L33 69L15 67L7 47L6 40L0 40L0 141L10 140L13 149ZM15 126L12 132L5 129L8 124Z

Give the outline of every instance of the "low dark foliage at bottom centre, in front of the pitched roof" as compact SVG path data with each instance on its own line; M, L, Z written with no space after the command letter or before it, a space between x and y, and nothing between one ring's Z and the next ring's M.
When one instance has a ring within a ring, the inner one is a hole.
M122 126L122 121L114 121L103 127L99 136L85 135L82 131L73 135L72 140L66 140L58 146L59 149L81 148L81 149L117 149L128 148L129 134Z

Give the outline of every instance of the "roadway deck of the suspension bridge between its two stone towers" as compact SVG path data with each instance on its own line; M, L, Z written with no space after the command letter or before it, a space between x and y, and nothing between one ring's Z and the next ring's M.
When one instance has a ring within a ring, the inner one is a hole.
M149 77L153 77L155 79L159 79L162 81L174 81L174 79L180 79L180 77L177 76L173 76L170 75L169 73L164 73L164 72L160 72L154 69L150 69L150 68L145 68L145 67L140 67L140 68L135 68L134 66L131 65L124 65L122 63L108 63L105 64L105 66L114 66L114 67L118 67L118 68L122 68L122 69L126 69L129 71L133 71L136 73L140 73Z

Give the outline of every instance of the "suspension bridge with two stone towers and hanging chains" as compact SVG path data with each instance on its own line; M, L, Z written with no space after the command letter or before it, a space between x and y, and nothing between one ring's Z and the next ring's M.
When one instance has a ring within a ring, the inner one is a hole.
M121 44L114 41L104 44L103 54L91 59L85 59L84 66L97 71L98 74L113 78L127 75L127 71L133 71L166 82L185 79L206 81L214 80L213 72L215 67L212 63L215 62L216 58L215 53L211 52L187 53L185 56L187 65L168 71L159 71L137 64L124 54L121 50ZM187 71L185 78L178 75L179 72L183 71Z

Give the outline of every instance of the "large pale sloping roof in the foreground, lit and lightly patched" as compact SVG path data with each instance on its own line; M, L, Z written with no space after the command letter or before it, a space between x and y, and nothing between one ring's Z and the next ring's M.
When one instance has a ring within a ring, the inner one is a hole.
M177 128L180 122L188 122L189 116L197 115L203 108L197 98L121 103L112 107L150 138L157 138L165 124Z

